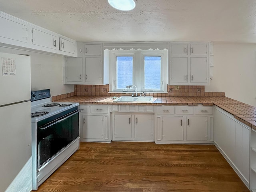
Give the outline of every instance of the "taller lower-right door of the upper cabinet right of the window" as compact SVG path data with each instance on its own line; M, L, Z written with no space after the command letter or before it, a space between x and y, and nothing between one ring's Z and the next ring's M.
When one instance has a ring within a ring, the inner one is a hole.
M191 83L207 83L207 58L190 58L190 74Z

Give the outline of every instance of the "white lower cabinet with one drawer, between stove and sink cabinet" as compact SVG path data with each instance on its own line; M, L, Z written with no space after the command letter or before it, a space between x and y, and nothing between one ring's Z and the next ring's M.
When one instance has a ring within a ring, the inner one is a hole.
M80 110L80 141L111 142L108 106L80 105Z

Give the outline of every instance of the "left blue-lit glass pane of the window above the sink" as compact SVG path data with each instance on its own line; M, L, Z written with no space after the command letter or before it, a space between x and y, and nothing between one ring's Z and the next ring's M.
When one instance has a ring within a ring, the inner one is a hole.
M117 56L116 58L116 76L117 89L125 89L127 85L132 85L132 56Z

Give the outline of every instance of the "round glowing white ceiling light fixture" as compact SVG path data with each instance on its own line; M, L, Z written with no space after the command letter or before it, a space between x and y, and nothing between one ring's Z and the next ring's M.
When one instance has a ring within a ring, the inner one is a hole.
M137 0L108 0L108 4L117 10L130 11L135 8Z

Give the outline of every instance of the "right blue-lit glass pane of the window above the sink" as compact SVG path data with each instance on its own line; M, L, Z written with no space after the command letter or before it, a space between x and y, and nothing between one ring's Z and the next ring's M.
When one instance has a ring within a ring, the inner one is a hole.
M145 89L161 89L161 57L144 57Z

